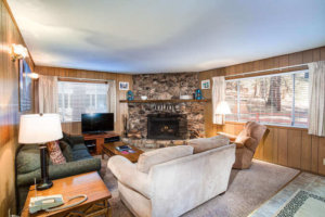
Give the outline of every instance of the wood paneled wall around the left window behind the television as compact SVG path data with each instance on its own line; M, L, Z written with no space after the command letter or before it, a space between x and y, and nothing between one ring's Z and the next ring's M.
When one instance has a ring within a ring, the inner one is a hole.
M58 68L58 67L47 67L36 66L35 72L40 75L50 75L68 78L84 78L84 79L101 79L101 80L115 80L116 81L116 98L117 98L117 118L115 124L115 131L120 133L123 130L122 116L128 115L127 103L119 103L119 100L126 100L127 90L119 90L119 81L128 81L130 89L132 89L132 75L128 74L115 74L115 73L103 73L94 71L82 71L82 69L70 69L70 68ZM62 128L64 131L80 135L81 123L63 123Z

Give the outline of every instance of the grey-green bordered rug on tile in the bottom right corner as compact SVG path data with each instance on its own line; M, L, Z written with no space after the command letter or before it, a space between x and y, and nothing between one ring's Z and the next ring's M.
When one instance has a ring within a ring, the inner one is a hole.
M312 192L298 190L274 215L276 217L323 217L325 215L325 197Z

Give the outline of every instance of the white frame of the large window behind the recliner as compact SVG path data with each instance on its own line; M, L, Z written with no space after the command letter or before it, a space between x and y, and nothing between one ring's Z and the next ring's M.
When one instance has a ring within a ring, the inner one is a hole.
M265 77L272 77L272 76L282 76L282 75L292 75L292 78L295 79L295 74L297 73L309 73L309 69L298 69L298 71L291 71L291 72L284 72L284 73L274 73L274 74L266 74L266 75L251 75L247 77L242 77L242 78L229 78L225 79L225 82L227 81L240 81L240 80L246 80L246 79L253 79L253 78L265 78ZM263 124L265 126L273 126L273 127L281 127L281 128L297 128L297 129L308 129L308 122L306 125L295 125L295 91L296 85L295 80L292 80L292 106L291 106L291 124L290 125L285 125L285 124L274 124L274 123L266 123L266 122L257 122L260 124ZM237 120L227 120L226 116L224 117L226 124L245 124L247 122L242 122L239 120L239 115L240 115L240 86L237 84ZM226 94L226 92L225 92ZM308 98L309 100L309 98ZM307 117L308 118L308 117Z

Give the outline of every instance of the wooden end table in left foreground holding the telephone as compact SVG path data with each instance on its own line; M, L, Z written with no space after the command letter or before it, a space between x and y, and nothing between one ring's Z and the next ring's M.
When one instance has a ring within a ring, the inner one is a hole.
M43 191L37 191L38 196L48 196L53 194L62 194L65 202L64 205L72 204L81 199L75 199L67 203L68 197L78 194L86 194L88 200L83 203L56 212L46 213L39 212L30 215L28 205L30 197L35 196L35 186L29 188L27 200L22 213L22 217L40 217L40 216L55 216L55 217L93 217L93 216L112 216L108 199L112 197L110 192L101 179L99 173L91 171L87 174L76 175L63 179L53 180L53 187ZM63 205L63 206L64 206Z

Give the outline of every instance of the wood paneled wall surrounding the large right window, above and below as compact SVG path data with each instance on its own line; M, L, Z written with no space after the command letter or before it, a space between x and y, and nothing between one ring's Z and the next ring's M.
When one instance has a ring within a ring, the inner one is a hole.
M229 67L216 68L199 73L199 79L211 79L214 76L243 75L245 73L300 65L325 61L325 47L297 53L243 63ZM211 81L212 82L212 81ZM211 98L211 89L203 90L205 98ZM205 107L206 136L212 137L218 131L238 133L240 123L226 123L224 126L212 124L212 104ZM307 129L268 126L269 133L259 145L255 157L292 168L325 175L325 138L310 136Z

